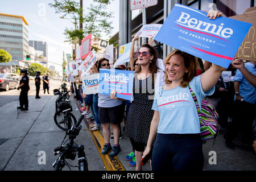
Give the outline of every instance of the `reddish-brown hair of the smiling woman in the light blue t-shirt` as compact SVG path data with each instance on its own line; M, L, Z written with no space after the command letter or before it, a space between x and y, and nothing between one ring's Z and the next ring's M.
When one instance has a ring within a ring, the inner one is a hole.
M169 55L164 60L165 66L173 55L182 56L184 59L185 68L188 69L188 73L184 74L183 81L181 81L181 87L185 88L188 86L189 81L191 81L192 78L196 76L196 60L193 59L193 56L189 55L188 53L176 49L176 50L170 52ZM165 81L166 81L166 84L171 83L171 81L168 80L167 72L165 73Z

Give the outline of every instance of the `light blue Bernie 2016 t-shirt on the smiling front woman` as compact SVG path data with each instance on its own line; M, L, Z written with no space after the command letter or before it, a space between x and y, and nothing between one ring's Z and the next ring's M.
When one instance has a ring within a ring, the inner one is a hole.
M189 85L196 94L200 107L203 98L214 93L214 86L204 93L201 85L201 75L194 77ZM188 86L186 88L177 86L171 90L163 90L163 88L161 86L159 93L155 93L155 100L152 105L152 110L159 111L160 115L157 132L161 134L200 133L196 104Z

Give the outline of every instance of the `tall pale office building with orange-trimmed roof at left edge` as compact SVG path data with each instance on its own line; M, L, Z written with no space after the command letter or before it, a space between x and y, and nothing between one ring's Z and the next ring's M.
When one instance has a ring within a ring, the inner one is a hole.
M28 67L27 26L24 16L0 13L0 49L12 56L8 63L0 63L1 72L15 72L14 68Z

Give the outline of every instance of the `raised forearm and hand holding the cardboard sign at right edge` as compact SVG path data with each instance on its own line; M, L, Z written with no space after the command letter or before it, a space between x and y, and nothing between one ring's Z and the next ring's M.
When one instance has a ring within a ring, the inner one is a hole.
M247 69L245 68L245 65L243 64L243 61L240 59L235 58L232 61L232 66L234 68L237 68L241 71L243 77L245 77L245 79L254 87L256 87L256 76L251 74L249 71L247 71Z

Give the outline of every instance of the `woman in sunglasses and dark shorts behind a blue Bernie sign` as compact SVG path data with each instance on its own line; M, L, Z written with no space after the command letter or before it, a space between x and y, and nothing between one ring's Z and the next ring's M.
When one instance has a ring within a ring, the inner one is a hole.
M109 60L106 58L100 59L98 61L98 72L100 72L100 68L110 69ZM103 135L105 141L101 154L108 154L108 152L112 150L112 152L110 152L110 156L115 156L119 153L119 151L121 151L119 146L119 124L123 121L122 101L114 100L110 98L110 96L99 93L98 115L103 127ZM113 149L110 145L110 124L112 125L114 134Z

